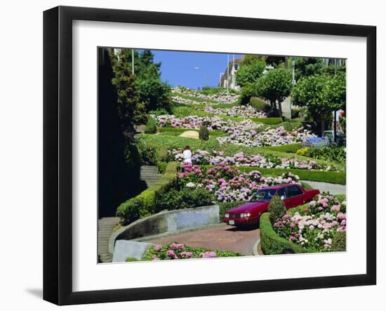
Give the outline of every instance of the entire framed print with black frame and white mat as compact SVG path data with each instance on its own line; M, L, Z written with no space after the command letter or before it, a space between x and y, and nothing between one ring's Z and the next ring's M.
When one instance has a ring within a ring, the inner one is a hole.
M44 299L376 282L372 26L44 12Z

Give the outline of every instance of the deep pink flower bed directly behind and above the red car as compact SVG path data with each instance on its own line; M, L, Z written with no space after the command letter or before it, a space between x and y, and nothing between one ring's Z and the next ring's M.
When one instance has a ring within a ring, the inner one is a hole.
M201 170L197 165L183 163L180 168L178 183L182 188L204 187L213 192L215 199L220 202L250 201L262 187L298 183L299 180L292 173L284 173L279 177L265 177L259 171L241 173L237 168L226 164Z

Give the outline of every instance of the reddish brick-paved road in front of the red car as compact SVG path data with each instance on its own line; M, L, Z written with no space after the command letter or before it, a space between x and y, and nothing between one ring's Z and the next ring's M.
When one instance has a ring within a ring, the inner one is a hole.
M218 227L177 234L147 242L165 244L175 241L188 246L221 251L238 251L243 255L253 255L253 246L259 238L260 230L258 227L237 228L223 224Z

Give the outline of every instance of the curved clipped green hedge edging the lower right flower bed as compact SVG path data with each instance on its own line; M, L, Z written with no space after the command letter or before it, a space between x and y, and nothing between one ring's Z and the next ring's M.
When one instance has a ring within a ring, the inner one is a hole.
M291 249L294 253L315 253L314 249L296 245L295 243L279 237L269 221L269 213L260 216L260 244L265 255L277 255L284 250Z

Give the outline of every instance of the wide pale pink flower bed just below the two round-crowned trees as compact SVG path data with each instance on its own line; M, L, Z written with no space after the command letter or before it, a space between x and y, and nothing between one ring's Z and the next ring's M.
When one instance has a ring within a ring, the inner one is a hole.
M280 146L290 145L302 142L308 138L315 137L310 131L305 128L297 128L291 132L287 132L283 126L278 128L266 128L265 131L255 131L255 129L240 131L235 128L234 131L229 131L229 136L219 137L218 141L222 144L232 143L241 146Z

